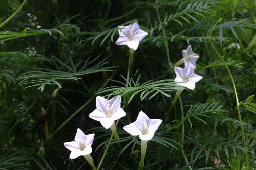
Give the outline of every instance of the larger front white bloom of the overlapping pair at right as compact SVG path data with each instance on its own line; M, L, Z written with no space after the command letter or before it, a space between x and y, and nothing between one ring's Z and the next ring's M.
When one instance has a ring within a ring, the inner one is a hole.
M191 90L194 90L196 82L203 78L194 73L194 66L192 63L188 63L185 68L175 67L174 70L177 75L174 81L178 82L177 85L187 87Z

